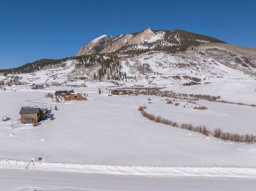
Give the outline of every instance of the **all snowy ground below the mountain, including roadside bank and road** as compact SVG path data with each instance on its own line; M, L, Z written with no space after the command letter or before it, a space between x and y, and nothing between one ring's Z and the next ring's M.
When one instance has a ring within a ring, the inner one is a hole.
M149 113L179 124L202 124L238 134L256 134L256 108L201 100L196 104L208 109L197 110L186 101L174 101L179 106L166 104L164 97L108 96L106 88L112 83L87 85L41 90L17 85L0 90L0 116L11 118L0 122L1 189L254 190L255 143L224 141L156 123L143 117L138 107L146 105ZM99 87L102 94L98 94ZM54 110L53 100L45 98L48 92L72 88L88 93L88 100L61 102L59 110ZM220 95L227 101L256 104L255 88L253 79L217 79L209 84L169 85L164 90ZM36 104L52 109L55 120L47 119L37 127L21 125L20 108ZM34 157L44 160L30 163ZM55 183L46 184L56 176ZM79 181L83 178L87 181Z

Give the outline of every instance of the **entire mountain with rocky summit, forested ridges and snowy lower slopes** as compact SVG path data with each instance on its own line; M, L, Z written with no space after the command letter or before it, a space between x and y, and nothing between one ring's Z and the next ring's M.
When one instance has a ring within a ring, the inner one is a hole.
M102 35L74 57L40 59L1 72L0 80L63 85L90 81L133 85L255 79L256 49L182 30L146 28L116 37Z

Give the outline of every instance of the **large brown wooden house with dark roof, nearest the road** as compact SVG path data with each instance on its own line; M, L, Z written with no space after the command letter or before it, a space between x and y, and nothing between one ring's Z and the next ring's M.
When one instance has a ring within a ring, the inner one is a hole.
M22 107L20 110L21 123L32 123L33 119L37 122L44 120L46 117L47 109L35 107Z

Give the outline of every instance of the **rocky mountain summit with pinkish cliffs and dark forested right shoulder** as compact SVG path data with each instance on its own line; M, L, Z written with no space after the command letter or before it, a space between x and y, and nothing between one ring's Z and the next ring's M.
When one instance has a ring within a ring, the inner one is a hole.
M77 55L95 53L136 52L142 50L170 51L183 50L202 43L224 43L218 39L183 30L151 30L122 34L116 37L102 35L80 49Z

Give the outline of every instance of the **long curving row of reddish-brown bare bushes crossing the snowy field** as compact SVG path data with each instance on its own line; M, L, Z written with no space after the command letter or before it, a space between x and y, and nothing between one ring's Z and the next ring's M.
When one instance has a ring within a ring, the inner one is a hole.
M256 136L252 134L251 135L231 134L231 133L223 132L222 129L220 128L215 129L213 132L211 132L211 130L209 130L209 128L207 128L205 125L193 126L192 124L188 124L188 123L182 123L181 125L179 125L178 123L173 122L172 120L169 120L169 119L165 119L160 115L156 116L154 114L148 113L145 109L147 109L146 106L139 107L139 111L144 117L147 117L149 120L155 121L157 123L171 125L173 127L178 127L181 129L187 129L189 131L201 133L205 136L212 135L212 136L215 136L216 138L222 138L223 140L230 140L234 142L245 142L245 143L256 142Z

